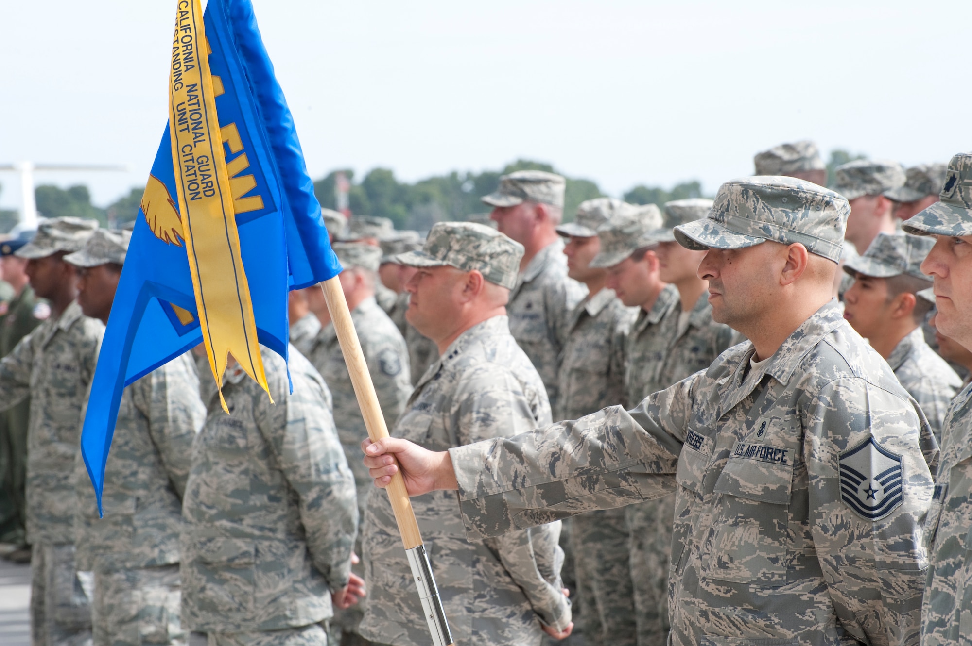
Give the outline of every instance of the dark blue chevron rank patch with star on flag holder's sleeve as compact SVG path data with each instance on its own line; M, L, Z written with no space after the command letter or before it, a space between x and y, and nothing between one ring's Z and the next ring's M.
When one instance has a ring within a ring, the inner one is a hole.
M862 518L885 518L904 500L901 456L873 436L842 453L841 499Z

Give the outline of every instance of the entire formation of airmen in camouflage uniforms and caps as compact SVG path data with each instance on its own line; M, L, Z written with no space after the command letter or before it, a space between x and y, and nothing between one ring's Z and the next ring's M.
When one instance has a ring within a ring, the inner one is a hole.
M7 435L17 410L26 428L33 643L429 643L372 486L385 450L460 644L574 619L632 646L972 640L972 285L939 250L972 263L972 156L851 162L837 192L810 143L755 161L714 203L599 198L563 224L564 178L521 171L483 198L492 228L424 242L326 210L392 436L434 453L363 462L310 288L291 294L293 393L263 352L276 404L230 362L227 415L191 353L124 389L100 520L79 431L129 235L58 218L5 243L0 343L40 321L0 362Z

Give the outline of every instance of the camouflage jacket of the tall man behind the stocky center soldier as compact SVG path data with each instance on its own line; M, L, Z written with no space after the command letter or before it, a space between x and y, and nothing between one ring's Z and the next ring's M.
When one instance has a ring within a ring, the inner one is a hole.
M543 247L509 292L509 331L537 369L552 409L557 407L557 368L570 313L586 288L567 275L564 241Z

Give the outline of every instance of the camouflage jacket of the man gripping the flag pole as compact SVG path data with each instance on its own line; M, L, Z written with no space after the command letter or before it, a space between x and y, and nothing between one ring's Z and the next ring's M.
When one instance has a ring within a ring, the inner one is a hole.
M469 538L676 487L670 643L916 643L938 458L918 404L834 302L752 356L630 412L451 449Z

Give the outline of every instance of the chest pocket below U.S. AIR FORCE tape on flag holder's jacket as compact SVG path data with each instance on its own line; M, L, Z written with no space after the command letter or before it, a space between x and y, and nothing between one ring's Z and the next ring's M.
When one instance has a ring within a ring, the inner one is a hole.
M733 447L734 456L740 444ZM720 496L704 569L718 581L779 587L786 583L793 482L792 460L781 451L792 451L751 446L743 447L748 457L730 458L715 481L713 491Z

